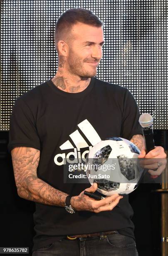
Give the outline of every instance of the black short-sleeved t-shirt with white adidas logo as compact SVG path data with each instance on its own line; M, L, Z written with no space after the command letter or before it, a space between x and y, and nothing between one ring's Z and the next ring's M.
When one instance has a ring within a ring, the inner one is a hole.
M79 195L90 184L64 183L64 163L70 152L79 156L105 138L130 140L142 134L139 115L138 105L125 87L93 77L84 91L69 93L49 79L15 101L8 150L19 146L39 149L38 178L67 194ZM64 207L35 204L33 251L67 235L119 230L134 238L128 195L113 210L99 213L70 214Z

